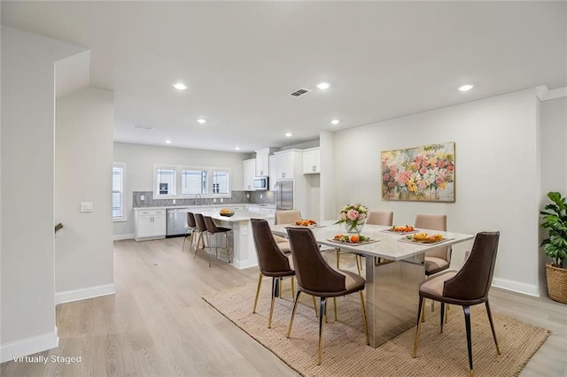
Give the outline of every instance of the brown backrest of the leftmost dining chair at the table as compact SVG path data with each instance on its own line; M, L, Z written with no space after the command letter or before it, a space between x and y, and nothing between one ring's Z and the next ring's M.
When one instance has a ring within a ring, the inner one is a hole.
M276 241L265 219L250 219L256 256L260 271L266 276L291 271L290 261L277 247Z

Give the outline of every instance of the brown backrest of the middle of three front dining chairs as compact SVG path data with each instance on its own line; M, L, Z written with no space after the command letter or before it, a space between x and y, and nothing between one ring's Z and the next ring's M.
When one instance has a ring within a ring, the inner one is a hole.
M322 292L338 292L346 289L346 276L338 273L322 258L311 229L288 227L287 235L299 287L307 294L314 292L315 296L321 296Z

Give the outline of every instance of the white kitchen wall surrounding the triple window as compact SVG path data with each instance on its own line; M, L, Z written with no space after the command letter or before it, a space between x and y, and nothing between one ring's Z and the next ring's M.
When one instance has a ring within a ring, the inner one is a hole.
M174 147L156 147L125 142L114 142L114 161L126 165L126 213L127 221L115 222L114 236L134 236L134 212L132 210L133 191L153 191L153 164L203 165L229 167L231 189L242 190L243 153L221 152L215 150L190 150Z

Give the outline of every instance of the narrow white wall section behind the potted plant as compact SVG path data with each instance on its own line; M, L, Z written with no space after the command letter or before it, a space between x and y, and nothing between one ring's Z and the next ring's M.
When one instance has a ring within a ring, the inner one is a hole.
M549 191L567 196L567 97L541 103L541 204L549 203ZM540 235L543 231L540 230ZM550 259L540 252L541 293L547 294L545 264Z

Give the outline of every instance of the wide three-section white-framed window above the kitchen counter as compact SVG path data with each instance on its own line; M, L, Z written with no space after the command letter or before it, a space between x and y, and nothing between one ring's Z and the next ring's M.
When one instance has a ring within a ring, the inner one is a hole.
M153 198L230 197L230 168L153 165Z

